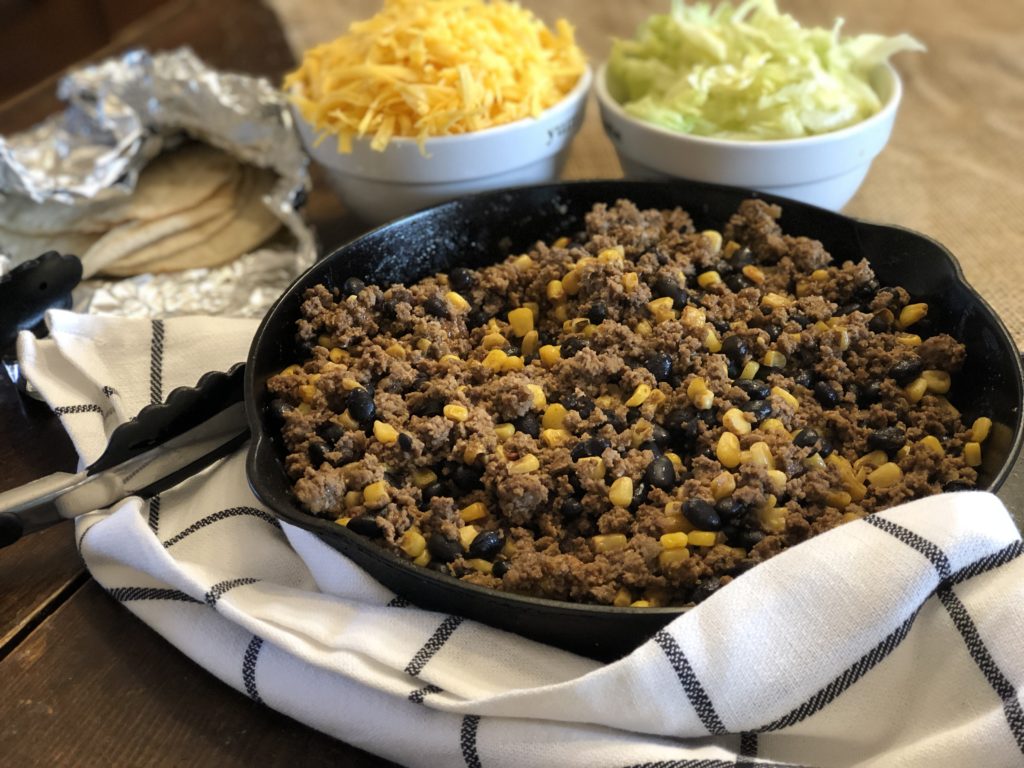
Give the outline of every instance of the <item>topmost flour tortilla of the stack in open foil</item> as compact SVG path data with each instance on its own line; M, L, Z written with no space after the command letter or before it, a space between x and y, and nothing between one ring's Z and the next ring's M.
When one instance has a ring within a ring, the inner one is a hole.
M0 202L0 226L29 236L104 232L133 220L154 220L195 208L239 172L239 162L206 144L190 143L155 158L129 197L70 206L11 196Z

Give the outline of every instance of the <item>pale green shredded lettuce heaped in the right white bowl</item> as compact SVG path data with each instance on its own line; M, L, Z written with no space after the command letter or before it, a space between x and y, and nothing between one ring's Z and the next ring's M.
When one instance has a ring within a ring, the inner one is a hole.
M672 0L632 40L615 40L611 97L630 115L682 133L733 139L795 138L860 122L882 104L871 70L900 51L923 51L909 35L843 37L803 28L775 0L712 7Z

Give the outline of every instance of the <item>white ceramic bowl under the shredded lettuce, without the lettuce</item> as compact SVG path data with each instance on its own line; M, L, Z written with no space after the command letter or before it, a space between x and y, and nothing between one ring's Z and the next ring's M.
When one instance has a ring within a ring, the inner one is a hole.
M902 88L889 65L871 73L882 110L856 125L803 138L741 141L677 133L628 115L605 87L595 90L601 122L631 178L681 177L792 198L838 211L857 191L889 140Z

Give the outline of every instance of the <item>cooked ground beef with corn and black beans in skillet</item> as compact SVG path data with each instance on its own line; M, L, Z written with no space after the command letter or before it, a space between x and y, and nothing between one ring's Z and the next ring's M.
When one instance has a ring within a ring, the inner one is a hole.
M268 384L296 498L474 584L683 605L972 486L963 345L780 213L746 201L719 234L620 201L494 266L311 289L308 359Z

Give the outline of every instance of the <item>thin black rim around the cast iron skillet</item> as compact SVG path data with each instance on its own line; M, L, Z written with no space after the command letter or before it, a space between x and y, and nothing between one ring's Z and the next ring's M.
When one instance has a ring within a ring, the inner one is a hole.
M873 221L866 221L853 216L847 216L845 214L837 213L835 211L829 211L826 209L821 209L816 206L809 205L807 203L801 203L799 201L788 200L785 198L780 198L773 195L767 195L764 193L759 193L752 189L744 189L742 187L726 186L722 184L710 184L706 182L689 181L689 180L674 180L665 182L655 181L636 181L630 179L587 179L579 181L561 181L551 184L539 184L529 186L519 186L511 187L507 189L500 189L495 191L480 193L477 195L470 195L463 198L459 198L454 201L442 203L431 208L424 209L417 213L411 214L410 216L395 219L393 221L387 222L379 227L376 227L364 234L355 238L348 243L333 250L330 254L326 255L324 258L316 261L312 266L310 266L305 272L300 274L293 281L292 285L289 286L276 301L267 310L266 314L263 316L259 328L253 337L252 345L250 346L249 355L246 361L246 379L245 379L245 407L246 407L246 418L249 422L249 427L252 435L250 441L248 455L246 457L246 474L249 480L249 485L252 492L255 494L257 499L263 503L275 516L287 520L288 522L297 525L298 527L309 530L310 532L316 534L319 538L327 540L340 540L346 545L356 548L360 551L362 555L372 560L381 561L389 567L397 566L399 569L404 570L409 575L416 578L420 581L426 581L428 583L433 583L436 589L443 591L464 591L473 594L475 598L482 600L484 602L493 603L496 607L503 608L515 608L524 613L538 612L538 613L549 613L552 610L557 610L560 612L567 613L579 613L582 615L604 615L607 617L621 617L625 618L628 616L647 616L650 618L659 617L662 623L669 621L670 616L678 616L686 612L690 606L667 606L667 607L646 607L646 608L633 608L633 607L615 607L610 605L598 605L592 603L573 603L562 600L553 600L549 598L539 598L531 597L528 595L518 595L510 592L501 592L499 590L488 589L486 587L480 587L478 585L469 584L458 580L454 577L441 574L436 571L424 568L418 565L414 565L409 560L398 557L397 555L388 552L383 547L380 547L370 540L354 534L343 526L339 526L331 520L325 518L314 517L306 512L303 512L298 505L292 503L290 499L279 499L278 496L272 492L272 489L267 488L263 485L262 479L262 467L267 462L272 462L278 465L279 470L283 471L280 467L281 461L276 456L273 455L272 439L270 438L266 429L266 420L263 413L263 409L258 404L258 394L255 390L255 360L258 351L268 343L265 339L265 332L268 326L272 324L274 315L281 310L281 307L287 303L291 298L292 294L297 292L299 285L305 282L307 276L314 272L326 271L329 268L331 262L340 257L349 249L354 248L357 244L361 243L368 238L377 237L381 231L388 229L398 223L409 223L415 222L417 220L426 219L427 217L435 214L435 212L441 209L446 209L454 206L472 204L474 201L480 201L488 198L497 198L502 195L515 195L518 193L540 193L551 190L554 193L556 189L563 190L567 196L571 196L573 189L586 188L592 185L606 185L614 184L616 188L623 189L621 197L630 197L630 188L649 188L651 186L672 186L672 185L686 185L690 186L695 190L711 190L716 193L726 193L733 194L737 196L742 196L745 198L758 198L764 200L768 203L774 203L786 208L793 209L795 206L800 207L804 210L811 212L812 214L817 212L816 215L826 215L829 217L838 217L839 219L845 219L851 224L861 224L865 226L879 227L881 229L896 230L913 238L926 241L935 247L936 252L941 254L945 260L948 262L948 266L952 268L953 278L957 284L957 287L965 290L970 298L977 304L977 306L986 315L985 319L987 324L996 332L999 337L1000 346L1006 346L1007 348L1014 350L1014 368L1016 370L1017 381L1024 381L1024 361L1022 361L1017 345L1014 342L1013 336L1011 336L1010 331L1007 329L1006 325L1002 323L1001 318L996 314L992 307L987 301L975 290L975 288L967 281L964 274L963 267L956 257L947 249L944 245L934 240L933 238L919 232L916 230L910 229L908 227L899 226L896 224L882 224ZM1014 468L1015 462L1021 452L1022 445L1024 445L1024 412L1020 408L1017 411L1017 423L1014 426L1013 441L1010 446L1010 452L1007 456L1006 462L999 467L998 471L995 473L992 481L989 485L984 488L985 490L994 493L996 492L1002 483L1006 481L1007 477L1010 475ZM342 554L345 554L344 552ZM371 573L371 575L373 575Z

